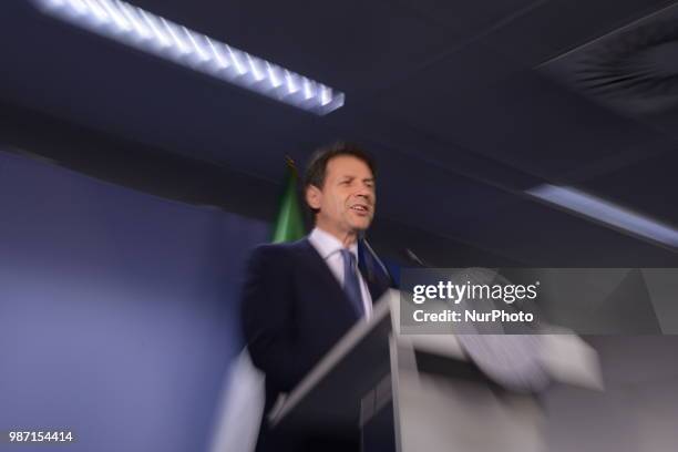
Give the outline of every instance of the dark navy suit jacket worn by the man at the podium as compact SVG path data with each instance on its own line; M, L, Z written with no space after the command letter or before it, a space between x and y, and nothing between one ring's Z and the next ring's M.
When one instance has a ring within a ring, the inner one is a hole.
M361 268L373 301L386 275ZM369 278L368 278L369 276ZM265 413L289 392L358 320L343 289L305 238L263 245L251 253L243 292L243 328L254 364L266 373ZM328 450L331 439L281 438L261 422L257 451ZM316 442L314 442L316 441ZM337 444L351 450L357 444Z

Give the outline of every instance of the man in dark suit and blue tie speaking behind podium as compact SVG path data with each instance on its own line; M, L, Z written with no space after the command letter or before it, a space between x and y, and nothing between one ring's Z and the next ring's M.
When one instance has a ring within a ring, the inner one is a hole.
M243 294L249 355L266 374L257 451L359 450L358 438L282 436L267 425L278 396L294 389L351 326L368 320L389 285L383 271L368 271L367 259L358 259L359 237L374 215L371 157L345 143L319 150L306 173L305 197L314 230L292 244L257 247Z

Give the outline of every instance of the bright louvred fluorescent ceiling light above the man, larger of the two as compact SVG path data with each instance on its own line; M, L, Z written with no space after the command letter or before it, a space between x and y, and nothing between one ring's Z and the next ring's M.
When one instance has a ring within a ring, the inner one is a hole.
M343 93L119 0L33 0L47 14L204 72L277 101L323 115Z

